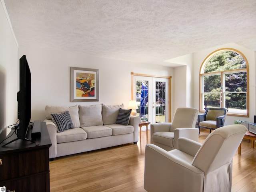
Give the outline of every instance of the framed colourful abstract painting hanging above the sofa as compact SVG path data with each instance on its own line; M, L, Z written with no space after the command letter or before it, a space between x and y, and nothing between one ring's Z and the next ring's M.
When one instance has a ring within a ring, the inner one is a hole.
M99 101L99 70L70 67L71 102Z

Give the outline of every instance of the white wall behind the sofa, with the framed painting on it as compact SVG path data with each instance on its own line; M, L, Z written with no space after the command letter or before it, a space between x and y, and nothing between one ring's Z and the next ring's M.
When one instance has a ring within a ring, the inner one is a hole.
M26 55L32 79L31 121L44 120L45 106L76 104L122 104L131 99L131 72L157 76L173 76L173 69L96 58L75 52L61 52L20 46L18 58ZM99 69L99 102L70 102L70 67Z

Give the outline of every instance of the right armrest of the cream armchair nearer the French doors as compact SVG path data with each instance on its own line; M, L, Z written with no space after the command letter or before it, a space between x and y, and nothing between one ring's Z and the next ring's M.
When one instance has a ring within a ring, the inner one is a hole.
M178 148L178 138L185 137L198 142L198 128L176 128L174 130L174 149Z

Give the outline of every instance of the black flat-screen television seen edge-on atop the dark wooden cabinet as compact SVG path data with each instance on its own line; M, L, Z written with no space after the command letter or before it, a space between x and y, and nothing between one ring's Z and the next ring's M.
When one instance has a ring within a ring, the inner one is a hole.
M17 137L25 139L31 119L31 73L25 55L20 58L20 91L17 100L19 119Z

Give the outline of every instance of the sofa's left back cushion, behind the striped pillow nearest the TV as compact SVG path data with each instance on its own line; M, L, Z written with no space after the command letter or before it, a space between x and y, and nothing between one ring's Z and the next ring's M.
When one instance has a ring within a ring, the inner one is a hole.
M46 119L52 120L51 114L63 113L68 111L72 120L74 127L80 127L79 115L78 115L78 105L75 106L50 106L45 107L45 117Z

